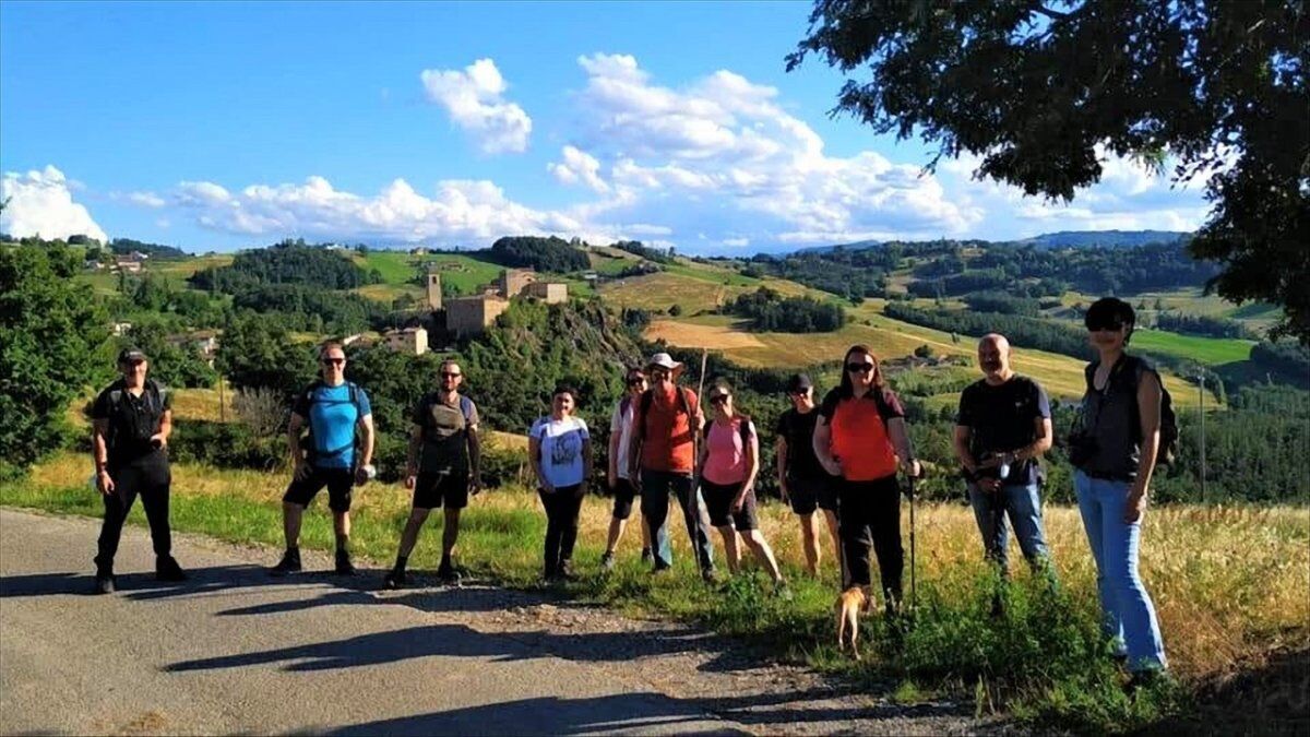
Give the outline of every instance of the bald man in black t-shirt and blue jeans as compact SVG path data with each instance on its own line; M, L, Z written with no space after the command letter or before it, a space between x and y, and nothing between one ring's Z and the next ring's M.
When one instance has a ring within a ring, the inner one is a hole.
M955 420L955 456L988 559L1007 567L1009 513L1023 557L1035 568L1049 563L1038 492L1038 459L1051 448L1051 400L1040 384L1010 367L1010 344L992 333L979 341L984 378L964 388Z

